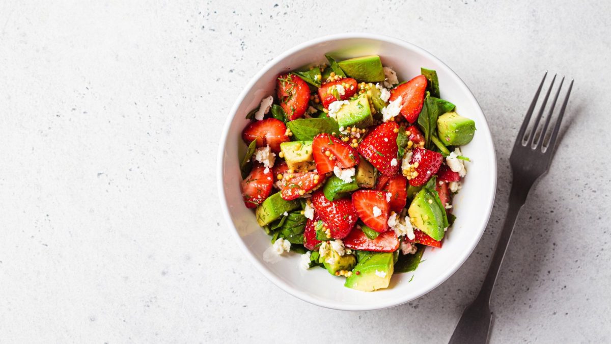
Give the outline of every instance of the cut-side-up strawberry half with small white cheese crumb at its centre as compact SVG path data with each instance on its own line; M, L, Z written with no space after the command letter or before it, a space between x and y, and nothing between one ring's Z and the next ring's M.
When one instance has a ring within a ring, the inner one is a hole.
M359 190L352 194L354 209L365 225L382 233L388 230L389 204L386 193L376 190Z

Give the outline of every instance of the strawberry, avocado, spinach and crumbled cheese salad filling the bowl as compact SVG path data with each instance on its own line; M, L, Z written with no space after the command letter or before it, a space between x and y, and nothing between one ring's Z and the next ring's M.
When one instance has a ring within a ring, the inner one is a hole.
M271 236L264 258L297 252L348 288L388 288L443 249L475 122L442 99L435 70L403 81L378 55L326 58L278 75L246 115L244 205Z

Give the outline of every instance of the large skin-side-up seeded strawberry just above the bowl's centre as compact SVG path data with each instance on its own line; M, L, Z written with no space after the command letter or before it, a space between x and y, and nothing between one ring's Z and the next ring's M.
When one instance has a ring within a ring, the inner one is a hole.
M398 130L399 125L395 122L382 123L371 130L359 144L360 155L387 176L397 174L401 165L397 160Z

